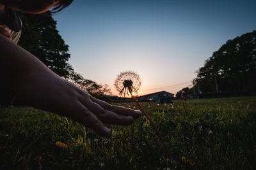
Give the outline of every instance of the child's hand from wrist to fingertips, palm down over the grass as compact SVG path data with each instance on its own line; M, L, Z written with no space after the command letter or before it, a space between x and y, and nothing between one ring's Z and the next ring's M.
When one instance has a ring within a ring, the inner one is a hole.
M72 118L102 136L110 132L104 123L129 125L141 115L140 111L100 101L51 71L24 76L15 92L18 102Z

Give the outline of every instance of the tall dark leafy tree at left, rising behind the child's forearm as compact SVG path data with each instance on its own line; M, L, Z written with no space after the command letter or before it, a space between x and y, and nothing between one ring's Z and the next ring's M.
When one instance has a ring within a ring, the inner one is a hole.
M70 58L68 45L56 29L56 21L50 15L20 13L22 35L19 45L38 57L56 74L69 78L74 70L67 63Z

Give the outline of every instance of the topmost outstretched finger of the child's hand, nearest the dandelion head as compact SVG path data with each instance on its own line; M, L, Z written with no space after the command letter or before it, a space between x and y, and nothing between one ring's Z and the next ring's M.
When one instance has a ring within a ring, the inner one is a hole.
M118 115L132 116L133 118L139 118L141 116L141 111L139 110L132 110L130 108L124 108L122 106L112 106L111 104L96 99L95 97L90 97L90 99L92 99L94 103L97 103L100 106L102 106L105 110L113 111Z

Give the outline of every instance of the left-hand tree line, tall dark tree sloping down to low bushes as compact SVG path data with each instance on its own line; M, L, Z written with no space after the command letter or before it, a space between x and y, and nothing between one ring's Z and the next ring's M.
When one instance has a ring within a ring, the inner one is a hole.
M29 15L20 13L22 34L18 45L38 57L54 73L86 90L93 96L109 94L108 85L100 85L93 80L85 79L68 64L70 54L68 45L61 38L56 21L51 15Z

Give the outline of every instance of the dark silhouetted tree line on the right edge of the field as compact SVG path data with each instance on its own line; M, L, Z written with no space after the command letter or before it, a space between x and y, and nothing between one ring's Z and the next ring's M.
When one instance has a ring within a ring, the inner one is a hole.
M256 95L256 31L228 40L196 71L188 96Z

